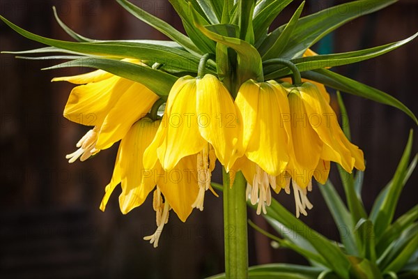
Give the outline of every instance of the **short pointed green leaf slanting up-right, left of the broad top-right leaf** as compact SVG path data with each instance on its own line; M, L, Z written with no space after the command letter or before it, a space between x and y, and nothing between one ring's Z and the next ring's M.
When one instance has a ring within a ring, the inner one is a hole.
M280 57L281 52L283 52L283 50L286 48L286 45L296 28L297 20L299 20L300 14L302 13L304 3L305 1L300 4L299 8L297 8L289 23L286 24L286 28L283 30L283 32L280 33L279 38L277 38L274 44L267 50L267 52L265 52L265 54L263 54L263 61ZM266 78L268 79L268 77Z

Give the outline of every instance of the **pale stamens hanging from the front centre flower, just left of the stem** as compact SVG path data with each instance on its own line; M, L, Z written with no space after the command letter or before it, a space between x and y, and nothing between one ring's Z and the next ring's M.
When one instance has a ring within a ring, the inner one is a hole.
M202 151L197 154L197 180L199 184L199 193L196 200L192 204L193 208L203 211L203 202L205 201L205 192L210 188L210 169L215 167L215 160L212 156L212 146L203 147ZM212 162L213 161L213 162Z

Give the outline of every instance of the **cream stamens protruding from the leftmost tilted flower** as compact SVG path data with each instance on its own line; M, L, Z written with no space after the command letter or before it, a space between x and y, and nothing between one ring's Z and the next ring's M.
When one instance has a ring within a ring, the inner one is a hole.
M68 160L68 163L74 163L78 158L80 158L81 161L87 160L94 153L98 152L98 150L95 149L95 144L98 140L99 129L98 126L95 126L92 130L89 130L79 142L77 142L75 146L79 147L79 149L65 156L66 159L70 159Z

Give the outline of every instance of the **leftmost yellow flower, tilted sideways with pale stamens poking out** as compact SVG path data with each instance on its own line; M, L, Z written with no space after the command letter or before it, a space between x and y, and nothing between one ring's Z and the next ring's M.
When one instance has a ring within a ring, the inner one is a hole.
M132 59L124 61L139 63ZM86 160L121 140L132 124L144 116L158 99L143 84L103 70L72 77L57 77L52 81L83 84L72 89L65 105L64 116L70 121L94 126L77 142L79 149L66 156L70 163L77 158Z

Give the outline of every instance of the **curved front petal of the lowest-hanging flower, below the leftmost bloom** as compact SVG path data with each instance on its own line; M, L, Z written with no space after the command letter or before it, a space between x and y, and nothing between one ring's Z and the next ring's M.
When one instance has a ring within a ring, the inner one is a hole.
M134 123L121 142L119 166L121 168L122 193L119 204L123 214L144 203L155 187L155 169L145 169L144 151L153 140L159 121L143 118Z

